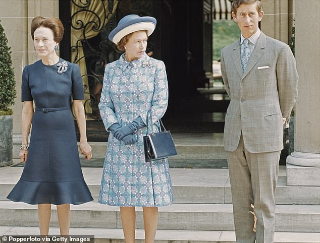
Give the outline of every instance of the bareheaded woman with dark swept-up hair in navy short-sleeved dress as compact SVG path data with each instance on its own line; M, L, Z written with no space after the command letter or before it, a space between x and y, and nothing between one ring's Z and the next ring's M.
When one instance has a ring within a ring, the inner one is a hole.
M80 131L80 150L86 159L90 159L80 69L78 65L59 58L55 51L63 32L62 22L57 18L39 16L32 20L31 36L41 59L26 66L22 74L22 146L19 156L26 164L20 180L8 196L15 202L38 205L41 235L47 235L49 231L51 204L57 205L60 233L67 235L70 204L93 200L83 179L71 112L72 94Z

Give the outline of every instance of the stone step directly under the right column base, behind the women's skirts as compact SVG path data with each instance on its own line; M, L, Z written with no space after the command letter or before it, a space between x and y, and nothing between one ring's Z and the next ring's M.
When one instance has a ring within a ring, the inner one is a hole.
M16 185L22 167L4 167L0 173L0 200ZM279 167L277 204L319 205L320 187L287 186L285 166ZM102 168L82 168L95 201L98 199ZM170 169L175 203L231 204L228 169Z

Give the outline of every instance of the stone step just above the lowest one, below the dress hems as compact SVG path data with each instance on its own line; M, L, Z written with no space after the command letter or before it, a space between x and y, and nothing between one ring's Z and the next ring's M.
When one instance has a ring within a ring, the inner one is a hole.
M56 207L51 225L57 227ZM89 202L71 205L71 227L121 228L120 207ZM143 228L142 208L136 207L137 229ZM0 201L0 226L37 226L37 206ZM234 230L231 204L173 204L159 208L158 229ZM320 205L277 205L278 232L320 232Z

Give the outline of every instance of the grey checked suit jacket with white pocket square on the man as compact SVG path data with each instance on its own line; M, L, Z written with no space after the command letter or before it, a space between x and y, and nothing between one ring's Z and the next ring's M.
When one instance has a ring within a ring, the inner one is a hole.
M231 98L225 149L235 151L242 132L245 148L251 153L282 150L282 117L287 118L288 127L298 93L295 58L287 44L261 32L242 73L239 43L240 39L221 52L222 77Z

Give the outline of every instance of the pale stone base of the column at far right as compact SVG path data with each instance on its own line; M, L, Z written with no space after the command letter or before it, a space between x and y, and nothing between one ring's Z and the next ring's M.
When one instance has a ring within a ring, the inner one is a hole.
M293 152L287 157L288 186L320 186L320 154Z

